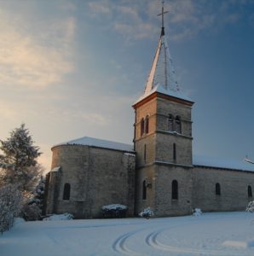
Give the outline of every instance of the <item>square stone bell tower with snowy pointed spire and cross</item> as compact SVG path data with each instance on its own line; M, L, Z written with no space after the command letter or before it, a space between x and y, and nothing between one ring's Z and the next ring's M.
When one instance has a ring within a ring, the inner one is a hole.
M136 213L151 207L155 216L188 214L192 194L193 102L179 89L162 28L136 113Z

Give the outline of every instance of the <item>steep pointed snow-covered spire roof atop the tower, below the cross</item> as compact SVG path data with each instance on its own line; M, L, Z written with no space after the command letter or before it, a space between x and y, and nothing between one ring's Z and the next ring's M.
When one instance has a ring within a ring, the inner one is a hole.
M165 35L159 38L159 44L156 49L152 68L148 75L144 93L137 102L150 96L153 92L163 93L168 96L174 96L192 102L188 96L182 93L177 84L176 73Z

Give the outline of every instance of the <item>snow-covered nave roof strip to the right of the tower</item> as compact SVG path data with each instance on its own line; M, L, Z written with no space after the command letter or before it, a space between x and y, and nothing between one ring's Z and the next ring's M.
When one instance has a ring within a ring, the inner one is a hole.
M193 166L207 166L254 172L254 165L246 163L245 160L220 159L204 155L193 155Z

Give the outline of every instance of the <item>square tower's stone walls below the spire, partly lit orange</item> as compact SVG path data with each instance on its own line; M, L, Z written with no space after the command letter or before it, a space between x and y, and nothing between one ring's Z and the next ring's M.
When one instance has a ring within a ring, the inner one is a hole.
M174 118L181 117L181 134L174 130L169 131L169 114ZM149 132L141 136L140 122L147 115L150 117ZM152 207L156 217L184 215L191 212L192 140L190 105L155 96L150 101L137 106L136 213L146 207ZM144 180L150 183L145 200L142 199ZM177 200L171 198L173 180L179 185Z

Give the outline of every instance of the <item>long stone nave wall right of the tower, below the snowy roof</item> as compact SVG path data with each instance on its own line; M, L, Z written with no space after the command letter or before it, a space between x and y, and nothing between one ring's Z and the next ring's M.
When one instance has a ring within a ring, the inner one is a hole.
M254 189L253 172L194 166L192 177L193 208L203 212L243 211L252 200L248 185ZM221 195L216 195L216 183Z

